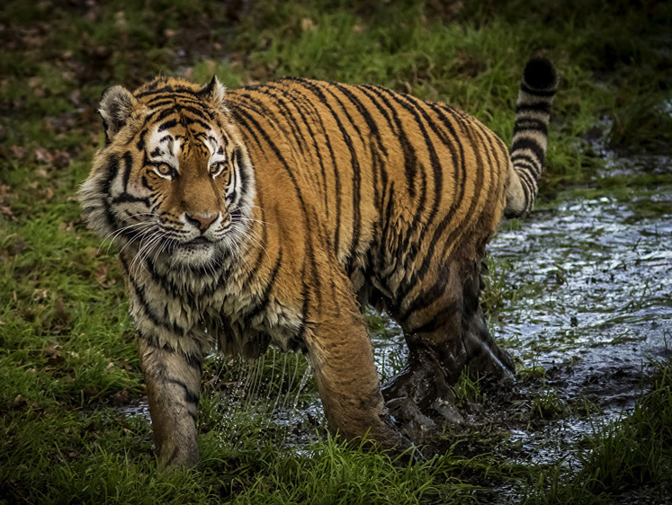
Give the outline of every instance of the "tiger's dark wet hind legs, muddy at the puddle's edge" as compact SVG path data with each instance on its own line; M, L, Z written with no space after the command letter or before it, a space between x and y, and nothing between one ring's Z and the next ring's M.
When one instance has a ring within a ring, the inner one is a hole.
M488 332L479 305L480 261L451 261L442 270L440 296L418 297L408 315L399 318L408 344L408 364L382 388L390 413L418 441L434 426L425 414L461 421L452 386L465 368L471 375L505 382L512 381L514 372L513 360Z

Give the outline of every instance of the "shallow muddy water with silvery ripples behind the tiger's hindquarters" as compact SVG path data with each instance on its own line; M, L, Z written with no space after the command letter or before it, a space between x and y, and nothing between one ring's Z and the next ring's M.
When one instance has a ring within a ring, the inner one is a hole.
M672 170L670 160L655 161L654 170ZM650 163L614 161L602 176ZM493 331L522 375L541 373L544 389L573 406L541 429L513 430L509 441L527 461L576 464L574 444L627 414L651 359L670 355L672 188L568 194L519 227L504 225L489 254L493 277L517 288Z

